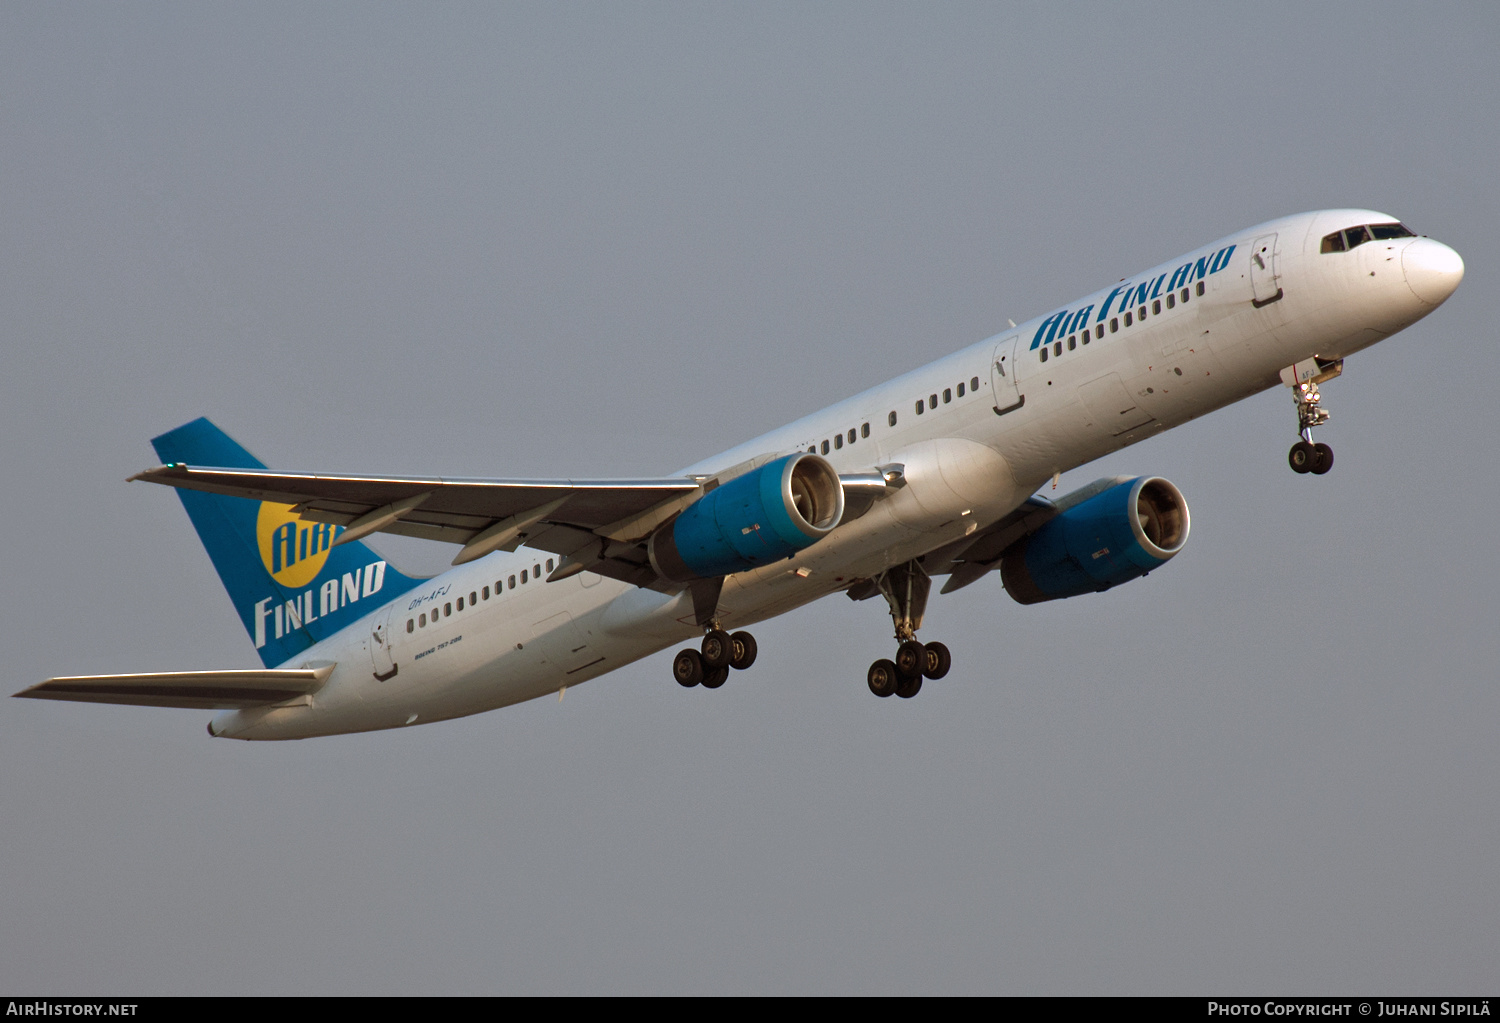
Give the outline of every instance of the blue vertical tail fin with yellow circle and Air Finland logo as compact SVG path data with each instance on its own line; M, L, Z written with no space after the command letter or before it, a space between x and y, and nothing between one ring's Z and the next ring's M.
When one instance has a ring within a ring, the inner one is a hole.
M152 440L164 464L264 470L207 418ZM274 668L420 579L363 543L333 546L344 526L298 519L290 504L177 490L230 600L267 668Z

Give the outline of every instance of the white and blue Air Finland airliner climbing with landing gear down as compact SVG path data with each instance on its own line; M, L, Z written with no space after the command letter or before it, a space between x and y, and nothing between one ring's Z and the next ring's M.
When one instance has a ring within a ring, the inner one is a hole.
M1188 504L1164 478L1050 478L1284 386L1293 471L1322 476L1320 386L1437 309L1449 246L1374 210L1239 231L660 478L273 472L207 418L153 440L262 669L60 676L15 696L219 711L213 736L292 740L519 704L687 642L684 687L756 660L746 628L844 592L882 597L912 698L952 663L916 639L933 578L999 570L1022 604L1100 592L1170 561ZM374 532L460 544L402 574ZM734 632L730 632L734 630Z

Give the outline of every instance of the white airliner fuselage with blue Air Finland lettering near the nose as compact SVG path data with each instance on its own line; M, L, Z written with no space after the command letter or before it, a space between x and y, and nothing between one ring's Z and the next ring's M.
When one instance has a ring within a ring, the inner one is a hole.
M686 468L712 474L816 448L840 472L904 471L906 486L862 518L790 560L729 576L723 624L848 590L982 530L1056 472L1278 386L1282 368L1342 358L1420 320L1458 284L1450 249L1410 237L1318 248L1330 231L1392 219L1324 210L1250 228ZM1215 258L1222 266L1212 270ZM424 582L284 664L334 664L321 690L294 705L225 711L210 730L280 740L460 717L702 633L688 594L592 573L549 584L550 556L492 554ZM375 676L390 672L378 660L386 652L372 644L381 626L398 669L386 681Z

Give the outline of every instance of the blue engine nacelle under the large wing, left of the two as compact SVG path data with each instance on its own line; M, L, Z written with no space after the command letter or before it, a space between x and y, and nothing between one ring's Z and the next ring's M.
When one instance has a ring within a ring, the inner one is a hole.
M657 530L651 567L675 582L759 568L826 537L843 508L832 465L788 454L722 483Z

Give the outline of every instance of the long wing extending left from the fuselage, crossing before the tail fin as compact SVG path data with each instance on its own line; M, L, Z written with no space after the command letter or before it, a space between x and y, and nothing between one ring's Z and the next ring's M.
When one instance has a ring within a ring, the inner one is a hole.
M396 532L464 544L453 564L492 550L550 550L573 572L657 586L640 542L702 495L700 480L470 480L328 476L162 465L130 477L188 490L291 504L345 526L336 543ZM560 568L562 572L564 568Z

